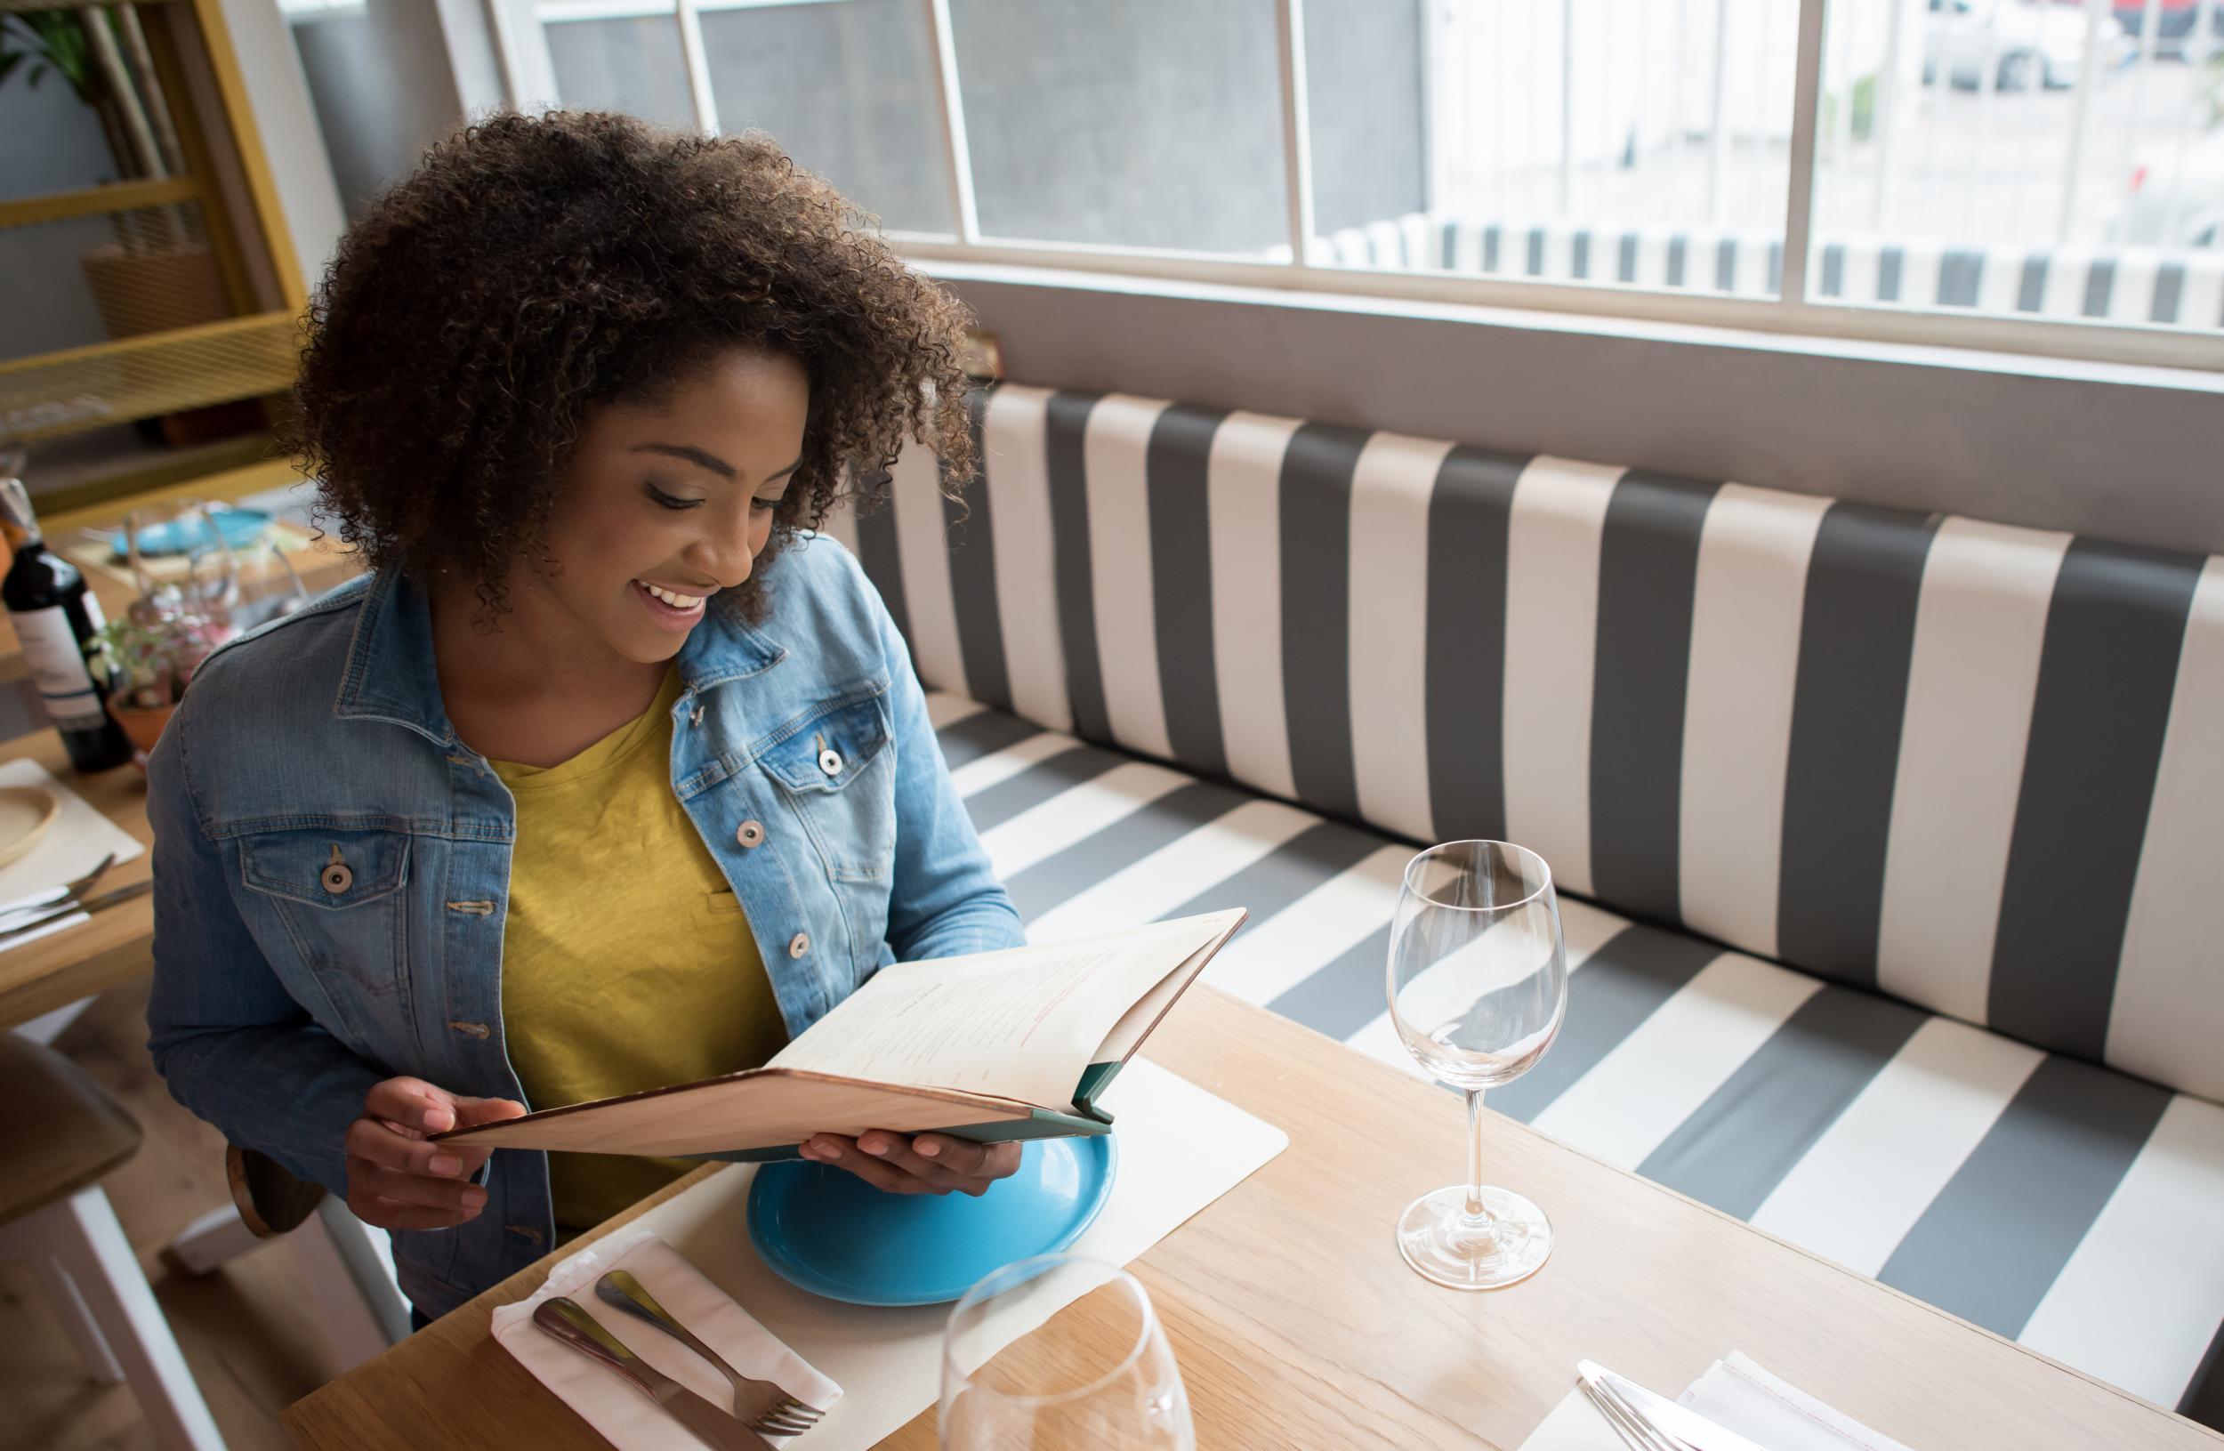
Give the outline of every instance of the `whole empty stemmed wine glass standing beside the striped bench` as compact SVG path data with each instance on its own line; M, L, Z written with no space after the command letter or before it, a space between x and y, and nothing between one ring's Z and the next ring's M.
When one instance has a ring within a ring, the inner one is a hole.
M1552 1253L1543 1211L1483 1186L1483 1090L1543 1057L1568 1013L1552 870L1508 841L1448 841L1406 863L1390 921L1390 1021L1432 1077L1468 1095L1468 1182L1406 1206L1397 1246L1461 1291L1528 1280Z

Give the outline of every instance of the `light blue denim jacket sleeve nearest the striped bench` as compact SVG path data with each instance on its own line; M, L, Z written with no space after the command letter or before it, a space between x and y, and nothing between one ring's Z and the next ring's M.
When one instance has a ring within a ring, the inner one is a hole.
M872 585L865 590L872 592ZM887 901L887 946L896 961L1025 946L1012 897L996 881L996 868L950 783L934 721L927 719L927 697L912 672L912 652L876 592L872 610L887 659L896 737L896 875Z

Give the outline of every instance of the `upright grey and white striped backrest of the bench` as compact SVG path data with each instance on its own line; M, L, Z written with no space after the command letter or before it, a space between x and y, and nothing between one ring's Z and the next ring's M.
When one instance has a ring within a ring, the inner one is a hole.
M2224 559L1001 387L921 679L2224 1099Z

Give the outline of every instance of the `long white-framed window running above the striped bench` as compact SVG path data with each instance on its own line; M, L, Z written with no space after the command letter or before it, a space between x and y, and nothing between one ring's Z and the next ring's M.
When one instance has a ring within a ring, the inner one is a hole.
M498 7L921 258L2224 367L2224 0Z

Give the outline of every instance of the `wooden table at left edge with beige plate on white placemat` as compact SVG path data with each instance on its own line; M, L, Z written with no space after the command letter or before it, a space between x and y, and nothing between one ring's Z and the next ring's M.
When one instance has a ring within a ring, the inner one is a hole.
M40 730L0 746L0 761L31 759L58 781L91 801L109 821L147 843L147 852L120 861L100 879L100 890L145 881L153 872L153 830L147 826L147 777L131 766L80 777L69 768L62 737ZM0 1030L31 1021L40 1013L73 1004L131 981L153 966L153 901L140 897L96 912L67 932L0 952Z

